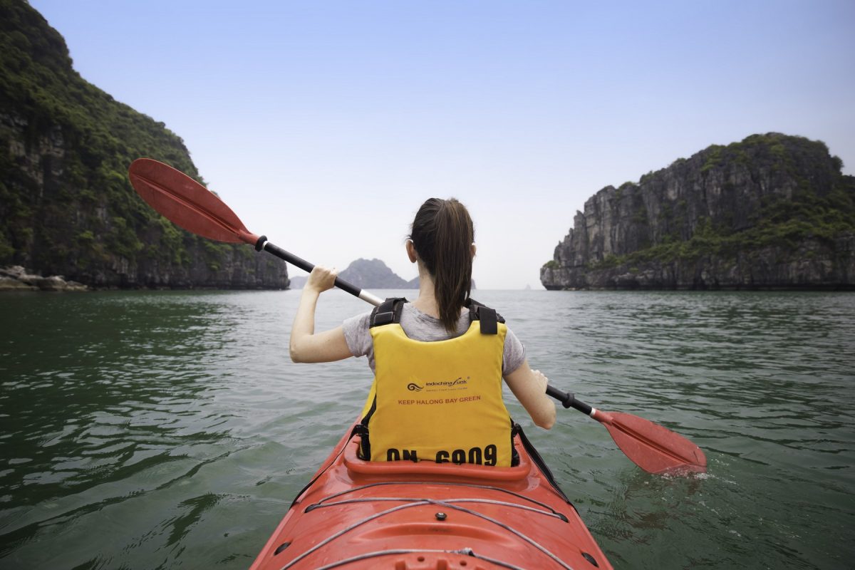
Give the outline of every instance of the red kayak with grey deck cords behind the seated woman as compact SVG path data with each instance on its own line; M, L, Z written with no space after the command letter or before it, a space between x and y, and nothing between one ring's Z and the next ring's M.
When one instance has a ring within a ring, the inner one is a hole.
M516 467L370 462L345 434L251 570L611 568L525 436Z

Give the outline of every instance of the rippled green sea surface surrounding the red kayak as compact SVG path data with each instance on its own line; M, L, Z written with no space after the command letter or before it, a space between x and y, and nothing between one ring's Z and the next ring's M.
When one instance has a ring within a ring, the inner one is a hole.
M248 567L371 381L290 361L299 294L0 295L0 567ZM551 384L705 450L708 473L647 474L509 396L615 567L855 566L855 294L474 297ZM325 293L318 329L368 309Z

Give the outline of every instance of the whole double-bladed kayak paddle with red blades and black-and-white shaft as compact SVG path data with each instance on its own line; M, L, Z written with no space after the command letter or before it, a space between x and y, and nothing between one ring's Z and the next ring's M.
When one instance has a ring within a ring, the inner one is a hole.
M149 205L188 232L221 242L254 245L306 272L314 265L268 242L265 236L249 232L222 200L185 173L150 158L139 158L128 169L133 188ZM343 279L335 286L374 306L382 303ZM576 400L572 394L547 386L546 393L602 423L615 443L636 465L649 473L703 473L706 457L700 448L663 426L631 414L601 412Z

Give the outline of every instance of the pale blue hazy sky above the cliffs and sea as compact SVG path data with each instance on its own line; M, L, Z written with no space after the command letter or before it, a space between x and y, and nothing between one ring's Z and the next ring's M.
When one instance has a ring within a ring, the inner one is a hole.
M852 0L30 3L251 232L339 269L415 277L416 209L457 197L476 284L540 288L596 191L756 132L855 172Z

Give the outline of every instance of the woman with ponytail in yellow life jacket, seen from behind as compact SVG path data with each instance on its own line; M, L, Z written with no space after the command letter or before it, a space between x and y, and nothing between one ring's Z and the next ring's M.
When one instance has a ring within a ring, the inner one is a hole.
M292 361L368 356L374 385L362 415L366 459L511 465L515 427L502 403L502 379L540 427L555 422L555 404L546 397L546 377L528 366L504 320L469 298L469 212L454 198L430 198L413 220L406 250L419 271L415 302L386 300L319 333L315 307L336 273L315 266L292 327Z

